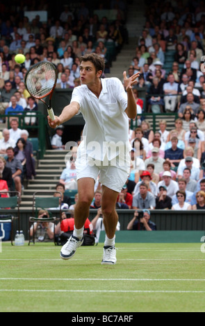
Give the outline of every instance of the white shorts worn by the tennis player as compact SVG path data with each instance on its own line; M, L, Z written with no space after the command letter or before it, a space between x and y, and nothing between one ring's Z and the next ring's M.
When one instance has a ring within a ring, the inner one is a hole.
M92 178L96 182L97 176L99 175L101 185L120 193L129 177L130 160L128 159L123 166L118 161L119 157L116 157L105 165L104 162L96 162L89 157L84 157L83 160L81 158L81 161L77 157L76 178L77 180L81 178Z

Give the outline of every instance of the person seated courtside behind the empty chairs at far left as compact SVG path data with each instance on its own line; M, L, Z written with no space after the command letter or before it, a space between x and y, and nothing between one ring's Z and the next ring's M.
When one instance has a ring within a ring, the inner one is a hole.
M35 222L31 225L30 236L33 237L35 233L35 239L37 242L51 242L54 241L54 223L47 222L49 218L49 212L44 209L40 209L38 212L38 218L42 218L44 222Z

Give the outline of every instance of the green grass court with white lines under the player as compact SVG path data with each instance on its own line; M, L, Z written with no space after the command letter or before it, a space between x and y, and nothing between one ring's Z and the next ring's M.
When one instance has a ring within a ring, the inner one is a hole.
M0 311L204 311L201 243L117 243L117 264L101 265L103 244L69 261L60 247L2 244Z

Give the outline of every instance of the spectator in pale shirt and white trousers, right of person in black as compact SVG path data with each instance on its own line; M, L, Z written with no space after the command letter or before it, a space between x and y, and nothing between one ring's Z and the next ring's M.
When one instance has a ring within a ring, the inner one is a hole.
M173 74L170 74L167 80L168 82L163 85L165 111L173 112L177 106L178 84L174 82Z

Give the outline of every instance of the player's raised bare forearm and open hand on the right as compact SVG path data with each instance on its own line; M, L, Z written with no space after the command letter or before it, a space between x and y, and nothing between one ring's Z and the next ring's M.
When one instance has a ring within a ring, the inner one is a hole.
M137 105L136 105L136 99L133 95L132 87L137 83L136 78L140 76L140 73L133 74L133 76L127 78L126 77L126 71L123 73L124 77L124 87L126 89L127 94L127 107L126 107L126 114L130 119L136 119L137 115Z

